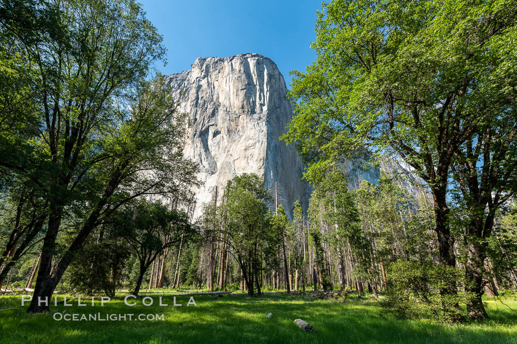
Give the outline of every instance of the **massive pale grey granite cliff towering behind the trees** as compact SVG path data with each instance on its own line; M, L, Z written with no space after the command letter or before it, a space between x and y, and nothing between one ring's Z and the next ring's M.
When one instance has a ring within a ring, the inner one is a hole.
M258 54L200 57L191 70L167 76L166 83L180 111L189 113L185 155L200 163L204 182L194 190L194 217L214 199L216 187L222 192L242 173L262 176L269 189L278 183L288 214L296 200L307 208L303 163L293 145L279 140L294 107L273 61Z

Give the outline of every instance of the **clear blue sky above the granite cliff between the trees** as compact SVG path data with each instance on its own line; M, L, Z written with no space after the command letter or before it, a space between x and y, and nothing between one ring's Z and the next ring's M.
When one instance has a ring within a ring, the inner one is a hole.
M163 35L168 64L163 74L190 69L196 57L258 53L275 61L287 84L289 72L315 59L317 0L140 0Z

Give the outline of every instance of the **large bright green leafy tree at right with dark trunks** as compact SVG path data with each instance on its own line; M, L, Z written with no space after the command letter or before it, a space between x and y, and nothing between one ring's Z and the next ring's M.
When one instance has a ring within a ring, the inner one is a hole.
M318 12L316 61L295 71L296 116L284 139L297 144L316 182L329 168L372 151L400 159L433 196L439 263L464 248L468 316L486 315L484 263L496 210L516 190L513 1L347 1ZM451 182L451 179L453 181ZM451 230L450 189L465 231ZM457 294L440 288L458 320Z

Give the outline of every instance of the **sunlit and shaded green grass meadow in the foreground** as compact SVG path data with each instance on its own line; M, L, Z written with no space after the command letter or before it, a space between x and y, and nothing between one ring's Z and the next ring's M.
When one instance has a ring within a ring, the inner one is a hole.
M62 297L58 301L62 301ZM178 297L181 307L173 307L172 297L163 297L158 306L143 306L136 300L128 307L117 298L100 306L52 306L51 314L27 315L21 296L0 296L0 343L517 343L517 312L500 303L488 309L490 320L465 325L442 325L422 321L397 320L382 316L373 299L317 300L267 294L263 297L194 297L197 306L186 306L188 297ZM130 300L133 301L133 300ZM505 303L517 308L514 297ZM53 312L65 314L161 315L163 320L65 321L54 320ZM272 313L270 319L266 318ZM319 331L305 333L294 320L301 318Z

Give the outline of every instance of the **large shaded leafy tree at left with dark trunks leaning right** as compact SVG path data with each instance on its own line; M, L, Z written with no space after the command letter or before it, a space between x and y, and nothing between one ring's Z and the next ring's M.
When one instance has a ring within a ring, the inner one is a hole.
M149 78L165 49L138 4L3 1L0 30L3 87L14 85L4 93L15 100L0 114L14 212L0 281L40 240L37 300L119 207L148 195L185 202L196 167L183 157L185 115L162 78Z

